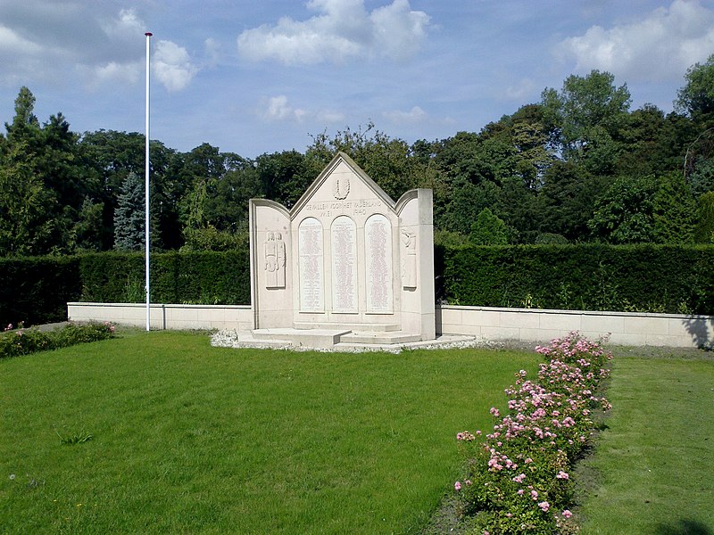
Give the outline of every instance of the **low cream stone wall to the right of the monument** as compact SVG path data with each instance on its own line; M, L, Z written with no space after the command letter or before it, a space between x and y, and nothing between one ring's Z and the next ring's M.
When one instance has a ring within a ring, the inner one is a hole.
M714 317L452 305L436 308L437 333L544 342L571 331L589 338L609 334L610 342L618 345L710 347L714 343Z

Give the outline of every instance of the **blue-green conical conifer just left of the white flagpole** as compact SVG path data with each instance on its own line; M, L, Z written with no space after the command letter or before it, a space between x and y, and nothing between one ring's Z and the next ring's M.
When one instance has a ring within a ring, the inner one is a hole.
M121 184L114 210L114 248L140 251L145 245L144 181L133 171Z

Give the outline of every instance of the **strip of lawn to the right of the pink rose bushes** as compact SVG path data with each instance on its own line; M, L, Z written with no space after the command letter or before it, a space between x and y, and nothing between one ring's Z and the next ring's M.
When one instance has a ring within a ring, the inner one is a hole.
M714 533L714 358L617 357L583 535Z

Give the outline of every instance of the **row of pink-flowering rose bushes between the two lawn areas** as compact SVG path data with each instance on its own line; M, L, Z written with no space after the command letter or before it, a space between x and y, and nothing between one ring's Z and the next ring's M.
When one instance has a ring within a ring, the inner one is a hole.
M612 358L600 342L570 333L535 350L547 362L537 380L516 374L507 412L491 409L493 431L457 434L472 482L460 487L461 511L494 534L574 529L571 468L592 440L594 411L610 409L595 395Z

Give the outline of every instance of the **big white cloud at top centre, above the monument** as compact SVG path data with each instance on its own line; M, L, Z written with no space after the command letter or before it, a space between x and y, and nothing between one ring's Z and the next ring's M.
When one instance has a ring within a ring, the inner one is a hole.
M419 50L429 21L425 12L411 11L409 0L394 0L371 13L364 0L311 0L307 7L321 14L247 29L237 38L238 52L249 60L287 65L380 56L403 60Z

